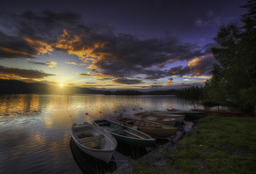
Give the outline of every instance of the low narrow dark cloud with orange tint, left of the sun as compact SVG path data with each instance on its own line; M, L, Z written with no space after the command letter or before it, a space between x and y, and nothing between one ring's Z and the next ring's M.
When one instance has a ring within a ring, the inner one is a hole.
M22 78L44 78L45 76L56 76L31 69L14 69L0 66L0 75L4 77L22 77Z

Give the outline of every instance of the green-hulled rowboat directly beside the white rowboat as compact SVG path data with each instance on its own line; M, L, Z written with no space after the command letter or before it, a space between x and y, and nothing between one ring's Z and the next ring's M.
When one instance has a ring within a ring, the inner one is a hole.
M112 120L94 120L93 124L102 127L109 134L112 134L117 141L125 144L139 147L150 147L154 144L155 139L150 135L131 127L126 127Z

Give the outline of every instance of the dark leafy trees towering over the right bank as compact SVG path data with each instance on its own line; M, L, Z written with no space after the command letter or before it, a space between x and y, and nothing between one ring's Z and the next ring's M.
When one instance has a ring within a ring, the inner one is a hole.
M249 0L243 8L245 25L222 25L212 48L218 64L207 81L205 96L217 103L230 101L241 109L256 105L256 0Z

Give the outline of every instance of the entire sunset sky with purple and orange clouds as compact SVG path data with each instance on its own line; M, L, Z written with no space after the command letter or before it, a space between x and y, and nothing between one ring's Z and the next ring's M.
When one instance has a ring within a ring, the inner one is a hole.
M202 86L245 0L8 0L0 79L139 91Z

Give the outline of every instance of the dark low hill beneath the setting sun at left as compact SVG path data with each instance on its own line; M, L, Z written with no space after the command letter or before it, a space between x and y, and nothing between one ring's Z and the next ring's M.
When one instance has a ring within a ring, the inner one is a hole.
M18 80L0 80L0 94L102 94L79 87L64 87L63 89L46 83L25 83Z

